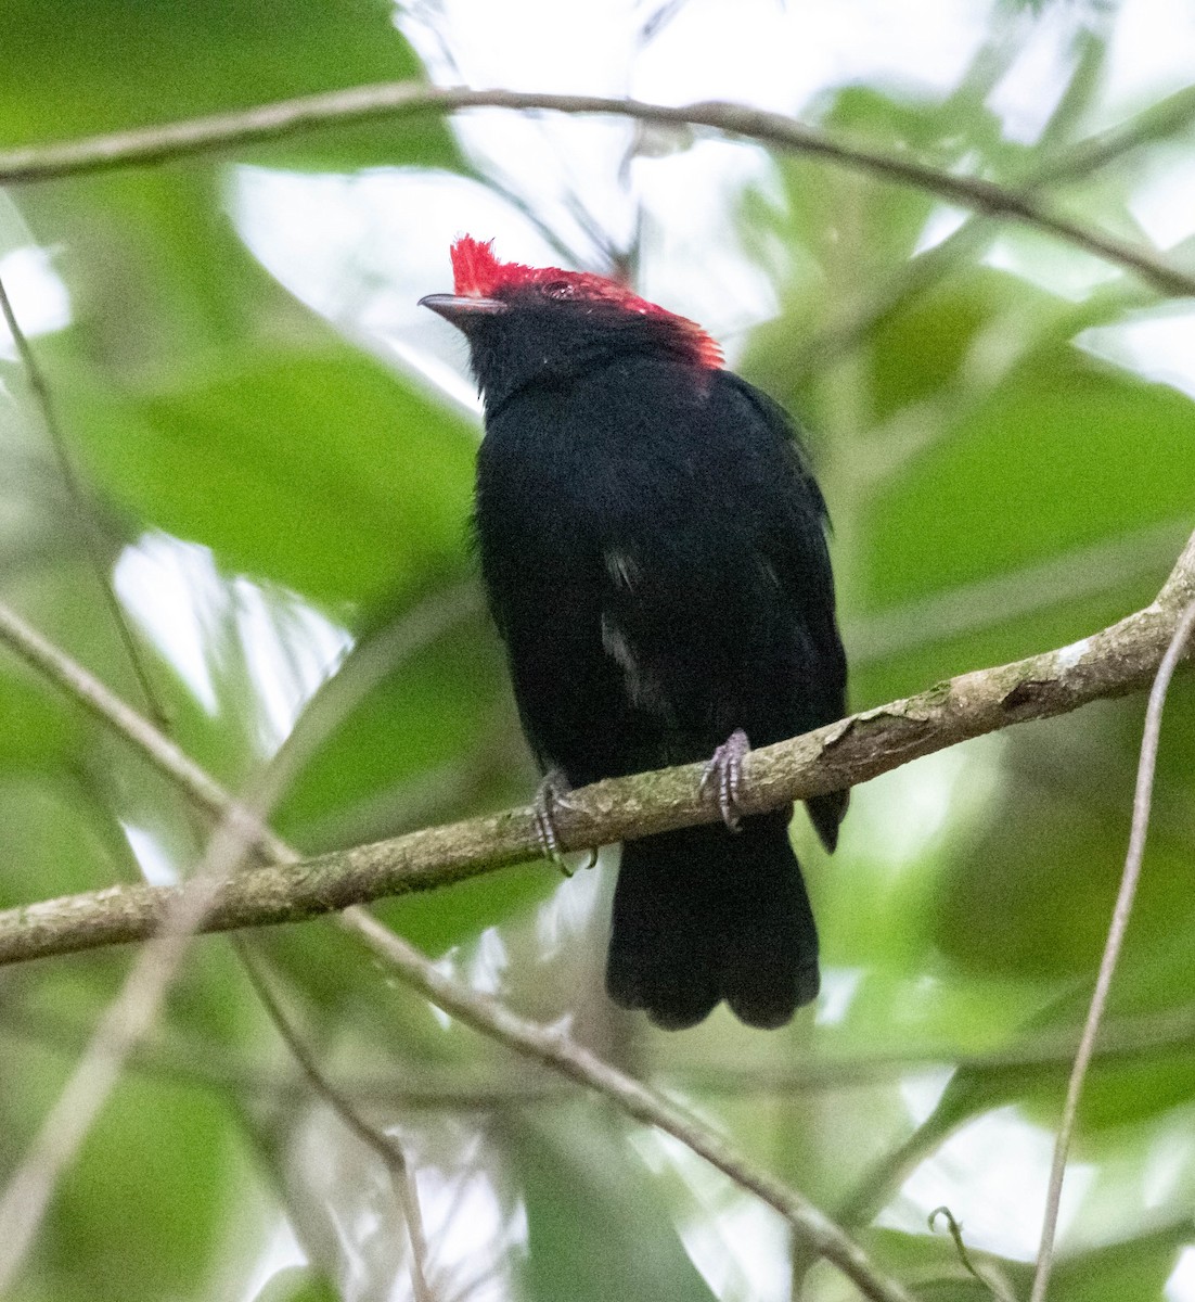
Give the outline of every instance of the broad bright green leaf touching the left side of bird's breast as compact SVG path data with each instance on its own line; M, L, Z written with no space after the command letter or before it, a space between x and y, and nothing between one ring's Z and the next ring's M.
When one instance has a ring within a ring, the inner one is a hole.
M64 389L96 483L139 527L342 608L463 565L475 435L345 346L234 355L125 397Z

